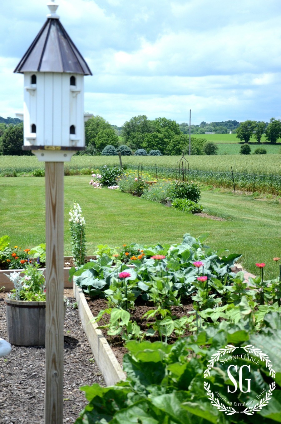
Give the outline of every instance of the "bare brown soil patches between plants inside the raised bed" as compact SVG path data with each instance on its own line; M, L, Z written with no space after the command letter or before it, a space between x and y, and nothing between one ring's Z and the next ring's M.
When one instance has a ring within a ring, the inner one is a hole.
M105 299L99 299L99 298L93 298L90 296L85 296L87 300L87 304L90 307L90 310L94 317L98 315L98 313L102 309L107 309L109 307L107 300ZM149 310L156 309L156 306L153 306L152 302L145 302L141 299L137 299L135 302L135 309L130 310L132 321L136 321L136 323L140 326L140 329L145 332L149 327L147 326L148 322L155 321L154 318L150 318L149 320L141 319L143 314ZM184 315L189 315L188 312L193 310L193 304L190 303L190 300L182 300L182 306L171 306L171 312L174 317L180 318ZM108 324L110 320L109 314L103 315L104 321ZM104 325L103 319L98 322L99 325ZM127 349L124 347L124 340L119 338L119 336L107 336L106 330L102 329L102 332L104 333L104 336L107 338L108 343L110 344L110 347L115 354L115 357L117 358L119 364L122 366L123 363L123 355L127 352ZM183 336L189 336L191 335L191 332L185 331L185 334ZM150 340L152 342L159 340L158 335L154 337L149 337L146 340ZM173 334L169 337L168 343L174 343L177 340L177 337Z

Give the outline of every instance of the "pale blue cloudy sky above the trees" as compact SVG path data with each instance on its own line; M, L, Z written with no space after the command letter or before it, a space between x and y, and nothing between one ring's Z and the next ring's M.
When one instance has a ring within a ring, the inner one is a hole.
M281 117L280 0L56 0L86 59L84 110L121 126ZM0 8L0 116L23 109L13 70L46 20L46 0Z

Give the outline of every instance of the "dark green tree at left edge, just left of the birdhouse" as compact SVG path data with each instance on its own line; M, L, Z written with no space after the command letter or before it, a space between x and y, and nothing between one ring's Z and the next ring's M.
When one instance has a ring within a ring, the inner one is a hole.
M22 156L31 155L31 151L23 151L23 124L9 125L1 139L1 153L3 155Z

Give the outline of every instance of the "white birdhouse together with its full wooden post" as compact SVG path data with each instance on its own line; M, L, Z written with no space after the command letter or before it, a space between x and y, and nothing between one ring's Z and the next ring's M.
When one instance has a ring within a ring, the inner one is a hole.
M91 71L56 14L50 14L14 72L24 74L24 150L45 162L45 424L63 420L64 162L84 150L84 75Z

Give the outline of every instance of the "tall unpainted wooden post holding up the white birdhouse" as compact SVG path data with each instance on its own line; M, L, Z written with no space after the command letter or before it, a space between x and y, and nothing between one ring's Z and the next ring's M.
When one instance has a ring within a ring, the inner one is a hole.
M63 420L64 163L45 162L46 371L45 424Z

